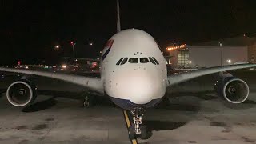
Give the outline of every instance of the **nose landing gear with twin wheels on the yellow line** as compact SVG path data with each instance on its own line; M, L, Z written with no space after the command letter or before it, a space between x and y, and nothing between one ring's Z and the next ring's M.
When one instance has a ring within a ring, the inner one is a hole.
M145 110L140 107L130 110L130 113L133 115L134 123L129 127L129 138L136 139L138 137L142 139L148 138L148 132L146 126L142 125L142 116L144 115Z

